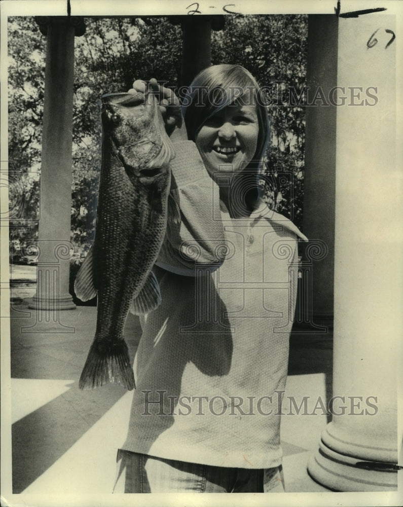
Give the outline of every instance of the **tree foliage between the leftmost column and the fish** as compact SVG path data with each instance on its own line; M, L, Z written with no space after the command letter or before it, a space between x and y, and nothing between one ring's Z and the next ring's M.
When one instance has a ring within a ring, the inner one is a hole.
M166 41L170 41L167 45ZM94 236L100 167L100 97L126 91L137 78L176 84L180 29L166 18L86 19L76 39L72 242L80 251Z

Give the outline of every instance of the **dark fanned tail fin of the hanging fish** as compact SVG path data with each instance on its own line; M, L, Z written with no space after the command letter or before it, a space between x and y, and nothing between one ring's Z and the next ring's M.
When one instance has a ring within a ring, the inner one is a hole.
M81 373L79 388L94 389L104 384L120 384L134 389L134 374L129 349L124 340L100 342L94 340Z

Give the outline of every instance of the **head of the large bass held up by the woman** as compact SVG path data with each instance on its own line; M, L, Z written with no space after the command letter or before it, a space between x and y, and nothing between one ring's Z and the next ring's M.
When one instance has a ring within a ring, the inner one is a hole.
M169 171L174 150L154 96L144 101L142 93L103 95L101 119L103 137L130 179L150 184Z

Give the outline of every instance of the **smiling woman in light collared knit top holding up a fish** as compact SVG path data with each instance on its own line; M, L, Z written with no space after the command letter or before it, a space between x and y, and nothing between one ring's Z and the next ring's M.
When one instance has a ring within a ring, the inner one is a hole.
M264 100L243 67L211 66L180 126L176 97L152 87L174 142L180 221L168 220L154 267L162 303L141 318L118 476L125 492L283 491L281 396L306 238L260 198Z

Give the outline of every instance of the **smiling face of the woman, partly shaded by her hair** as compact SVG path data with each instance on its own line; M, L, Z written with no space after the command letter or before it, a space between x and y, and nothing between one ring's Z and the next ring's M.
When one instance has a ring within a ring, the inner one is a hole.
M217 171L234 174L244 169L256 151L258 134L254 104L230 104L209 118L195 142L210 176Z

